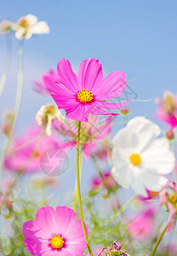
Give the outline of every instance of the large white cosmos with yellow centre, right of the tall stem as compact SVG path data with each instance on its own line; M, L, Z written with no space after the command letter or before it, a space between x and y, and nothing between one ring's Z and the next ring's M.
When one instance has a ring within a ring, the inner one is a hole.
M129 186L137 195L146 189L159 191L168 179L163 175L174 169L174 154L168 139L157 138L160 128L143 117L135 117L113 138L112 176L123 188Z

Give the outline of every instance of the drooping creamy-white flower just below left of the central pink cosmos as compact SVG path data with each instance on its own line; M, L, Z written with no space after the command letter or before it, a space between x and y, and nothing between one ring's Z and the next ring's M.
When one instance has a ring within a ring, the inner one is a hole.
M52 122L58 119L60 122L64 120L60 110L54 107L54 104L43 105L36 115L37 125L43 126L45 128L45 133L48 136L52 135Z

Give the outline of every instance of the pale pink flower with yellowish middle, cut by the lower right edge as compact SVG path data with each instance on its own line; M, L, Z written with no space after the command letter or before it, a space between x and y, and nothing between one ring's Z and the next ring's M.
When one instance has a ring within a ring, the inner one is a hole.
M167 189L169 189L169 192ZM160 203L161 206L164 205L167 207L170 213L167 229L167 231L170 232L174 225L174 218L177 216L177 184L168 181L167 189L163 189L163 191L160 192Z

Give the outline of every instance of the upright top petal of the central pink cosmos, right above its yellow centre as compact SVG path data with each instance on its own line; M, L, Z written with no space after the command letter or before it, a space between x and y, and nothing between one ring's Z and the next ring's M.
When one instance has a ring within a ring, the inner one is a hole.
M103 79L103 73L99 60L87 59L83 61L78 70L79 88L92 90Z

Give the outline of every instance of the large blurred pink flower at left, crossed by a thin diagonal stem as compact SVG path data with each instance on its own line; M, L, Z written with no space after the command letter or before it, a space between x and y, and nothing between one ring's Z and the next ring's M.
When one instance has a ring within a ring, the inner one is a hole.
M20 138L14 139L12 142L9 152L6 156L5 167L9 171L20 171L20 169L26 165L27 160L33 154L35 148L37 147L37 143L42 134L42 127L37 125L33 125L28 131L25 132L23 136ZM43 139L37 148L36 154L31 159L30 163L26 167L25 172L34 172L39 170L39 159L41 154L47 148L58 148L59 142L57 142L57 138L54 136L48 137L43 136Z

